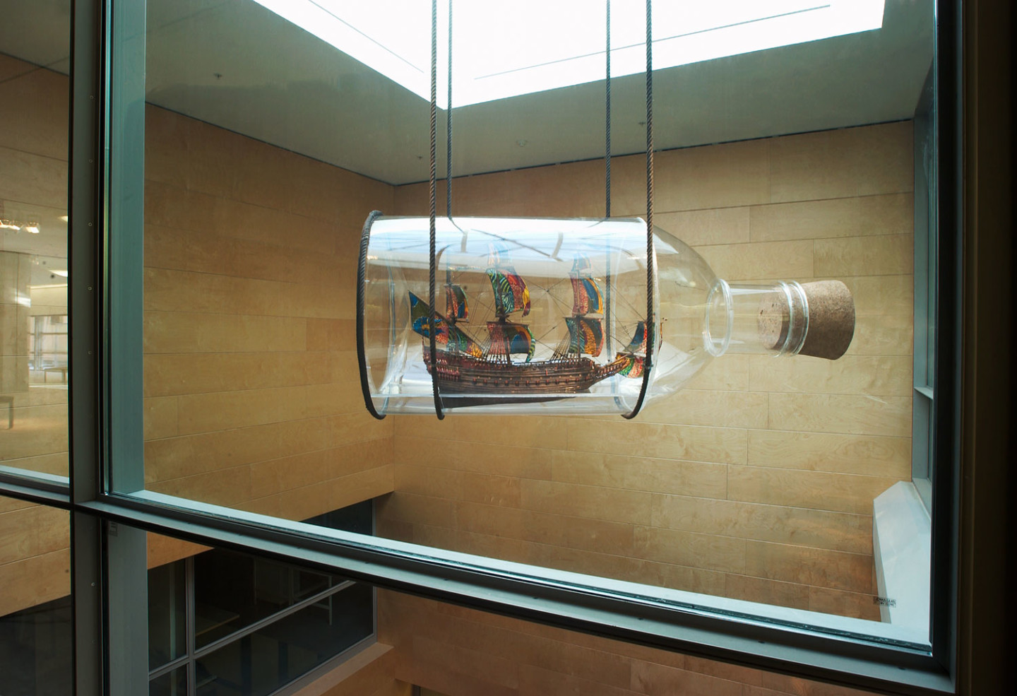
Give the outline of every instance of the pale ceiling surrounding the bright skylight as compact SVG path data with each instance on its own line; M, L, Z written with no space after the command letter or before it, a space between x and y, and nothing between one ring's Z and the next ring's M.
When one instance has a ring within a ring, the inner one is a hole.
M0 16L15 17L0 24L0 52L65 67L67 4L0 0ZM151 103L388 183L427 178L427 103L260 5L148 0L147 25ZM932 0L887 0L875 32L657 70L656 147L909 118L932 48ZM644 86L642 75L612 82L616 154L645 147ZM457 109L454 172L602 157L603 105L592 82Z

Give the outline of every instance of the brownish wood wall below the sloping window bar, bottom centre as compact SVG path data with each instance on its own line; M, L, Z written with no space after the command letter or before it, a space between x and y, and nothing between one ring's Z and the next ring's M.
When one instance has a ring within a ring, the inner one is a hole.
M378 639L398 680L436 696L863 696L869 692L654 650L392 591ZM426 692L423 692L426 693Z

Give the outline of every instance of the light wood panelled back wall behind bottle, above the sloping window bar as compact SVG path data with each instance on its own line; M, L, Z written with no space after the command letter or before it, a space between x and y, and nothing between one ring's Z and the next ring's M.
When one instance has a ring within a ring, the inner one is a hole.
M381 529L878 619L872 502L910 476L911 137L901 122L659 153L657 224L728 280L843 280L847 355L723 357L635 422L397 418ZM596 217L602 167L457 179L454 212ZM616 214L644 214L643 176L642 157L614 161ZM426 185L397 187L395 206L426 215Z

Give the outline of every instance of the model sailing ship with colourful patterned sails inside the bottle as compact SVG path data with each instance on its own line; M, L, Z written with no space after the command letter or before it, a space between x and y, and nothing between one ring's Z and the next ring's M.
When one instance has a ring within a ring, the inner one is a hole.
M470 317L467 294L452 281L451 270L445 275L445 313L434 312L433 364L431 308L409 293L413 330L424 339L424 364L428 372L436 375L443 394L520 395L516 401L543 401L587 392L613 374L642 376L647 344L645 322L639 323L635 336L614 359L606 363L591 359L604 348L604 299L586 257L577 256L569 274L574 299L572 315L563 317L567 335L547 359L534 359L537 342L529 325L512 321L513 314L522 318L530 313L530 290L523 277L501 262L500 252L492 250L488 257L487 278L493 291L495 318L486 323L485 340L478 341L461 328ZM516 355L525 357L514 359Z

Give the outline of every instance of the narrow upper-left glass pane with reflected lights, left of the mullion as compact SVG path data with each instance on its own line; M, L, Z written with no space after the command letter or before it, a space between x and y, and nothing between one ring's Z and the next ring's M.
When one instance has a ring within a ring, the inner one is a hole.
M0 16L0 466L66 476L70 0Z

